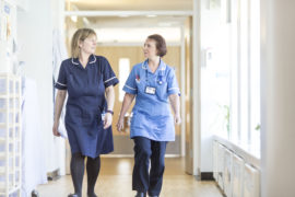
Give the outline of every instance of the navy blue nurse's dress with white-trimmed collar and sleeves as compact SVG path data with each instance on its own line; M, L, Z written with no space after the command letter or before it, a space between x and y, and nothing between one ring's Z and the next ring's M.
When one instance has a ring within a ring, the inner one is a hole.
M66 129L71 152L96 158L114 150L111 127L104 129L105 89L118 83L106 58L90 56L85 68L78 58L62 61L56 88L68 91Z

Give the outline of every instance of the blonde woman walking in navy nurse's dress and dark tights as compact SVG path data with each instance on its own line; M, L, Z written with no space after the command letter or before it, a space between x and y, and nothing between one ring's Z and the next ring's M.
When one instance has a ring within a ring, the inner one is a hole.
M68 93L66 129L72 152L70 165L74 186L74 194L69 197L82 196L85 157L87 196L96 197L94 186L101 169L99 154L114 150L110 126L114 85L118 83L118 79L107 59L94 55L95 49L95 32L90 28L78 30L72 37L72 57L62 61L56 83L58 93L52 128L55 136L60 136L59 118Z

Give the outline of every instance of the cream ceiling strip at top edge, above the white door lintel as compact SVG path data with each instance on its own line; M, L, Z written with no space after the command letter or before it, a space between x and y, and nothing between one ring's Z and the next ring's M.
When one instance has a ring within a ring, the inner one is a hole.
M67 8L74 5L79 10L109 11L192 11L192 0L66 0Z

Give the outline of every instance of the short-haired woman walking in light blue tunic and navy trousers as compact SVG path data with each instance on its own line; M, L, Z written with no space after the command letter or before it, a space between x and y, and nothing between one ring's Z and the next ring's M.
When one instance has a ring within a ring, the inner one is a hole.
M130 130L134 141L132 189L138 192L137 197L146 193L153 197L160 195L166 144L175 140L175 124L181 121L175 71L161 59L166 51L165 39L157 34L150 35L143 48L146 60L132 68L123 86L126 94L117 124L119 131L126 112L137 97Z

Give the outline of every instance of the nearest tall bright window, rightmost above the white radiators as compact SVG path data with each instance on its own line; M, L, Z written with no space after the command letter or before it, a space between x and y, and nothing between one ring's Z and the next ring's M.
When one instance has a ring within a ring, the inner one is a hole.
M256 148L260 146L259 15L259 1L232 1L232 139Z

